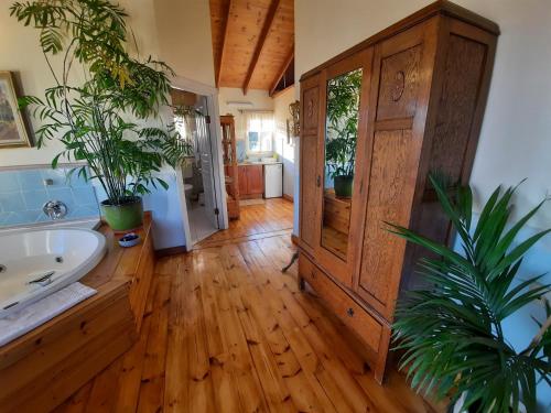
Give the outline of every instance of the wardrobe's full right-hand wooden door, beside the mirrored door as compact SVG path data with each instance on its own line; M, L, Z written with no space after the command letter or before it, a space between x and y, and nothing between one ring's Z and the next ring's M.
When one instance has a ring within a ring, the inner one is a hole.
M377 45L368 197L357 293L387 319L400 287L406 242L385 222L409 227L435 56L434 21Z

